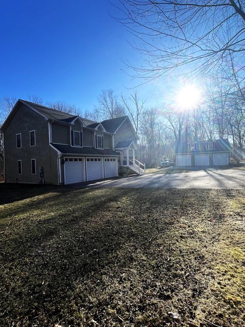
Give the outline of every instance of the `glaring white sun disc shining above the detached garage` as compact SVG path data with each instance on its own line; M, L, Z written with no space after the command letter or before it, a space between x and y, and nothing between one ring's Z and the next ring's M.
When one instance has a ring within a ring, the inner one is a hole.
M182 109L192 109L201 101L201 92L195 85L184 86L177 95L177 105Z

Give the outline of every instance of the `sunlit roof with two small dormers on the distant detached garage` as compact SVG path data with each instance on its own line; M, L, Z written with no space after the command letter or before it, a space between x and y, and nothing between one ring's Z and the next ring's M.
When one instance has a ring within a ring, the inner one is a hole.
M214 149L207 149L207 142L214 142ZM198 152L220 152L231 151L231 145L228 138L212 139L207 141L195 141L196 150L189 149L189 142L179 142L175 153L198 153Z

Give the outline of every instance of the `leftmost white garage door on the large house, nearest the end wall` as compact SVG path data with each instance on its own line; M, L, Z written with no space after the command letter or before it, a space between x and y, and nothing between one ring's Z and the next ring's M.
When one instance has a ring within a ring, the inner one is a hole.
M84 159L65 158L64 164L65 184L84 181Z

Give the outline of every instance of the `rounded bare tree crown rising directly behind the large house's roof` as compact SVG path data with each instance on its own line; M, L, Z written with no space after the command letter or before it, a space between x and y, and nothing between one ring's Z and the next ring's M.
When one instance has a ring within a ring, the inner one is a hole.
M98 103L93 111L95 121L103 121L126 115L125 107L118 101L118 97L112 89L102 90L98 97Z

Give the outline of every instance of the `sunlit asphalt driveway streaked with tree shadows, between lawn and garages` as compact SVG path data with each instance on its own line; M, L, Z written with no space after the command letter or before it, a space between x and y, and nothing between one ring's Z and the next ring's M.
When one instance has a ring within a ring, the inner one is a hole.
M104 180L88 186L115 188L165 189L244 189L245 170L206 169L188 173L153 173L135 177Z

